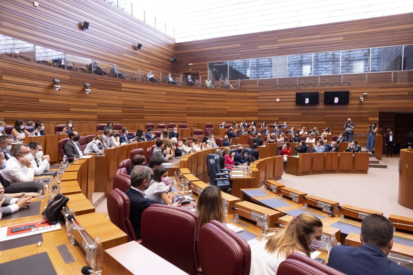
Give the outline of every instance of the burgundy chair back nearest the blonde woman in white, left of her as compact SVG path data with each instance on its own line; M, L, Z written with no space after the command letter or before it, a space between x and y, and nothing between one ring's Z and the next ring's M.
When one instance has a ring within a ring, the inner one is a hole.
M249 275L251 249L242 237L213 220L199 229L198 261L204 275Z

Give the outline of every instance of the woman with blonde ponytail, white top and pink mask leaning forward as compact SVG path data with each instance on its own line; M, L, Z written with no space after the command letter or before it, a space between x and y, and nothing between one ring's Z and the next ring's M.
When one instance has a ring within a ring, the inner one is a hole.
M250 275L273 275L291 253L310 257L322 244L323 223L312 214L302 213L283 230L270 228L251 251Z

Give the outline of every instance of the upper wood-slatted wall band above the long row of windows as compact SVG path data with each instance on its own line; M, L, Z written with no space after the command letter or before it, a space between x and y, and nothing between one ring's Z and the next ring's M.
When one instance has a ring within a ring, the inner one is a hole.
M408 13L176 43L174 71L205 78L211 61L413 44L412 22Z

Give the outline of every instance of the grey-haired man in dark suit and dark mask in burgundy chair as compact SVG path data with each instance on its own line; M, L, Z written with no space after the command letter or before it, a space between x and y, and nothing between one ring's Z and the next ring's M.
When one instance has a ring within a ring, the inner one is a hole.
M150 207L151 204L157 204L153 200L145 198L145 190L149 187L152 170L147 166L136 165L131 172L131 188L126 190L126 195L131 203L131 212L129 219L137 239L140 239L140 225L142 213ZM172 206L179 206L178 202Z

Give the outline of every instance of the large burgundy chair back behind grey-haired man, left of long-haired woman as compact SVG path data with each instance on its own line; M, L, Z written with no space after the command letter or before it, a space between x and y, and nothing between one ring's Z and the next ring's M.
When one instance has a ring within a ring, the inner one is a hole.
M188 209L152 204L142 214L142 245L186 273L195 275L199 268L196 252L198 223L198 215ZM167 234L165 228L168 228ZM184 251L179 256L165 249L165 244L171 244L171 236L179 251Z

